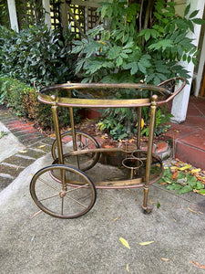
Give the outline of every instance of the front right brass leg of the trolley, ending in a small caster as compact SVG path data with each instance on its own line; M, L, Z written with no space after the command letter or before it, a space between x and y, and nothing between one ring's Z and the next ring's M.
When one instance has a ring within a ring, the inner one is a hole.
M154 138L154 128L155 128L155 114L157 108L158 96L153 95L151 98L151 108L150 108L150 123L149 123L149 143L148 143L148 153L147 153L147 162L146 162L146 171L145 171L145 184L144 184L144 201L142 208L145 213L149 213L151 208L148 206L148 195L149 195L149 175L150 175L150 166L151 166L151 155L152 155L152 145Z

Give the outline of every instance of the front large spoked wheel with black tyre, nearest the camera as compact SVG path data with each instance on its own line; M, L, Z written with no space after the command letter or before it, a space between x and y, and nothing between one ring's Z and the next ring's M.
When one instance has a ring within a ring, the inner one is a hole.
M87 175L64 164L39 170L31 180L30 194L41 210L65 219L86 214L96 202L96 188Z

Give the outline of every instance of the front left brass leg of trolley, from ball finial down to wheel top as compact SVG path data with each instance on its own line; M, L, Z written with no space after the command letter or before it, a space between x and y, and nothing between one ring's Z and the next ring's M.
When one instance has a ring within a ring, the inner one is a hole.
M53 120L54 120L54 128L56 132L58 163L64 164L63 148L62 148L61 135L60 135L60 129L59 129L59 120L58 120L58 114L57 114L56 97L54 96L52 100L54 101L54 104L52 105L52 113L53 113Z

